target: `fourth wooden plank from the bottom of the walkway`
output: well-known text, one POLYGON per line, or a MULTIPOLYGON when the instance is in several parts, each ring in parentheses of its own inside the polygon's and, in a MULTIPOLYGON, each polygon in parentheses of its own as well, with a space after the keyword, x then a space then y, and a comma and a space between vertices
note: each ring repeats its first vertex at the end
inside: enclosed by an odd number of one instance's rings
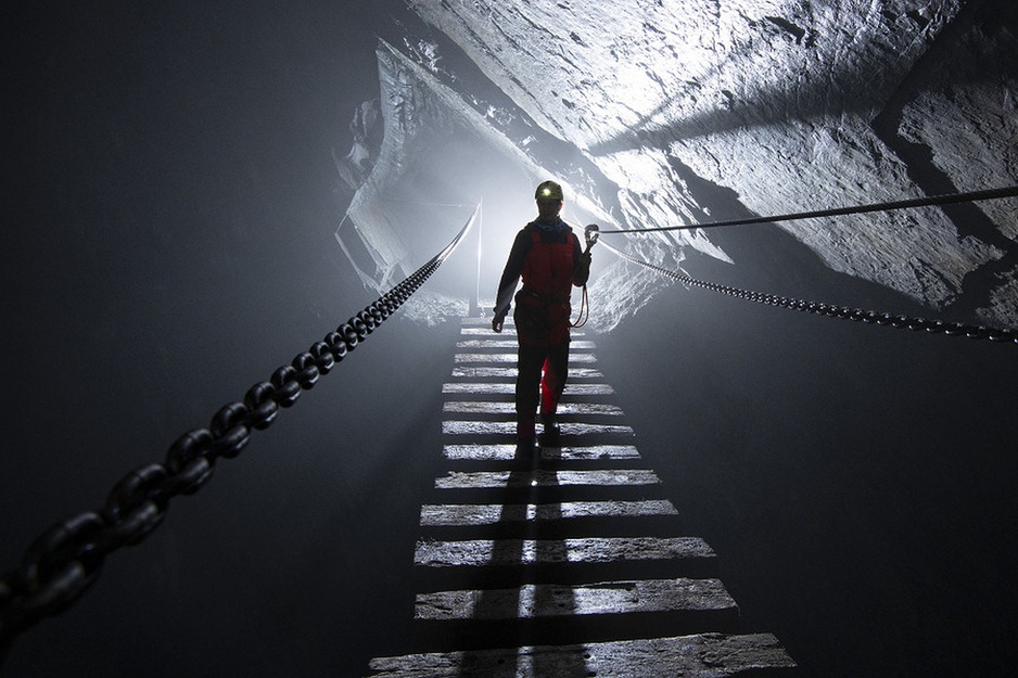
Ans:
POLYGON ((582 517, 636 517, 678 515, 667 499, 642 501, 563 501, 538 504, 424 504, 421 526, 474 526, 524 521, 560 521, 582 517))

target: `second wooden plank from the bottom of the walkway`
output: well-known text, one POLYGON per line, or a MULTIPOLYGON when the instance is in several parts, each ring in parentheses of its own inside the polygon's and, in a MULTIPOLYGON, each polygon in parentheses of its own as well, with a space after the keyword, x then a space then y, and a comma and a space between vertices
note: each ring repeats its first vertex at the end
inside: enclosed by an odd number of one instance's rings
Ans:
POLYGON ((419 593, 413 618, 529 619, 654 612, 710 612, 711 618, 720 615, 736 618, 739 607, 718 579, 679 577, 419 593))

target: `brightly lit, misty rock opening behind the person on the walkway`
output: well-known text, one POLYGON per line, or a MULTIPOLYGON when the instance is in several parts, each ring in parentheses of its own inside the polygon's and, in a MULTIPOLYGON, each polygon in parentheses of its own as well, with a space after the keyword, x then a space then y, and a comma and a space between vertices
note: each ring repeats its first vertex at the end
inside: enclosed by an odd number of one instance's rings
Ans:
POLYGON ((442 307, 453 306, 448 299, 489 300, 516 233, 536 216, 534 188, 546 179, 565 188, 562 216, 577 236, 584 225, 606 222, 603 213, 591 216, 598 209, 585 191, 571 186, 584 180, 583 171, 563 176, 583 162, 573 146, 531 123, 524 138, 510 139, 494 128, 492 116, 519 118, 519 111, 475 108, 396 50, 380 48, 379 56, 385 92, 377 116, 384 123, 383 132, 376 130, 380 148, 355 145, 345 161, 336 159, 341 175, 359 183, 336 241, 366 286, 383 292, 412 272, 480 203, 474 232, 422 296, 438 297, 442 307), (544 141, 533 143, 535 135, 544 141))

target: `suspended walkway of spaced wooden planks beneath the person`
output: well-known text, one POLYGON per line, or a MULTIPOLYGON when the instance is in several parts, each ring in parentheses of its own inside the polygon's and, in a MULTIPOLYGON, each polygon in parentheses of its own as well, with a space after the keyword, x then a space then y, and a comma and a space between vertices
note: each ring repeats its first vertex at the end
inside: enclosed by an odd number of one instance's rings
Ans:
POLYGON ((594 342, 573 342, 561 445, 521 453, 516 342, 488 322, 463 320, 442 389, 448 472, 413 555, 429 651, 374 658, 370 678, 794 675, 774 636, 740 627, 710 546, 680 534, 594 342))

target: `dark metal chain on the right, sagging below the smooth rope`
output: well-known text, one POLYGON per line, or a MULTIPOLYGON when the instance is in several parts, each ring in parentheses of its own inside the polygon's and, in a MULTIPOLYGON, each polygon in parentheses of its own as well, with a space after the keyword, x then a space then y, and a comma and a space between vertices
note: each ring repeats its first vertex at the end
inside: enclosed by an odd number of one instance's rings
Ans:
POLYGON ((966 336, 969 338, 987 338, 991 342, 1018 344, 1018 332, 1014 330, 985 328, 982 325, 971 325, 960 322, 944 322, 943 320, 927 320, 925 318, 915 318, 911 316, 895 316, 893 314, 875 310, 864 310, 861 308, 850 308, 848 306, 836 306, 834 304, 822 304, 817 302, 804 302, 802 299, 794 299, 787 296, 777 296, 774 294, 764 294, 762 292, 751 292, 748 290, 740 290, 738 287, 729 287, 728 285, 721 285, 713 282, 697 280, 696 278, 690 278, 689 276, 676 273, 675 271, 670 271, 665 268, 661 268, 660 266, 654 266, 653 264, 641 261, 640 259, 632 257, 624 252, 612 247, 608 243, 605 243, 603 246, 626 261, 649 268, 652 271, 661 273, 662 276, 666 276, 680 283, 701 287, 703 290, 710 290, 711 292, 727 294, 728 296, 735 296, 750 302, 756 302, 758 304, 780 306, 781 308, 801 310, 820 316, 829 316, 831 318, 841 318, 844 320, 852 320, 854 322, 865 322, 869 324, 878 324, 898 329, 907 328, 908 330, 915 331, 925 330, 926 332, 930 332, 932 334, 966 336))

